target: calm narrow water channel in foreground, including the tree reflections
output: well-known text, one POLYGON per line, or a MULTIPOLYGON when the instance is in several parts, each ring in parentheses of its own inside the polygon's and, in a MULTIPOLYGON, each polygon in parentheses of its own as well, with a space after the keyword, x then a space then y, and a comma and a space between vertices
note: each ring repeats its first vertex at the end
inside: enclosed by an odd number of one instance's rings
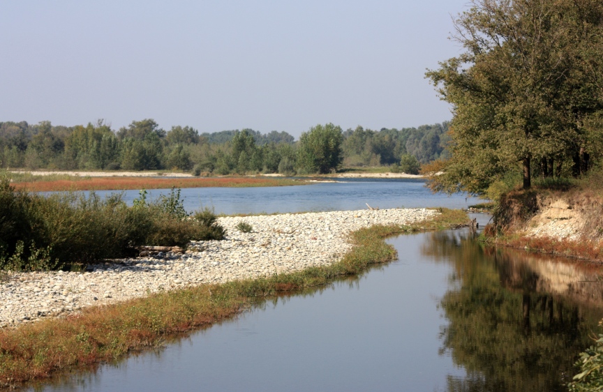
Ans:
POLYGON ((463 230, 389 243, 399 259, 362 277, 36 391, 567 390, 603 317, 597 269, 463 230))

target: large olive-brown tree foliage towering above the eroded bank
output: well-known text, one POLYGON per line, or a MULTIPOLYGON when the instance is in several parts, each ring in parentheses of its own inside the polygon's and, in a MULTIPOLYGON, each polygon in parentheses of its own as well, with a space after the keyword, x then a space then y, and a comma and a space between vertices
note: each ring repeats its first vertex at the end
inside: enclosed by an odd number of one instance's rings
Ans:
MULTIPOLYGON (((529 188, 533 163, 559 175, 584 156, 583 121, 603 110, 600 95, 583 92, 596 86, 584 58, 602 17, 595 0, 472 1, 454 36, 466 52, 426 74, 454 113, 452 158, 432 189, 483 194, 518 169, 529 188)), ((603 64, 600 52, 588 59, 603 64)))

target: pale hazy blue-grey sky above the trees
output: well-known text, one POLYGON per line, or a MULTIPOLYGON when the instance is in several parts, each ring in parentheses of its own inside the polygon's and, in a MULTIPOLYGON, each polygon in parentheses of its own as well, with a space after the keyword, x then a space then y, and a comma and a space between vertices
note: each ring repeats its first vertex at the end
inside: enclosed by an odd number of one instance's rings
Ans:
POLYGON ((317 123, 380 129, 451 118, 424 79, 459 53, 466 0, 2 1, 0 121, 118 129, 317 123))

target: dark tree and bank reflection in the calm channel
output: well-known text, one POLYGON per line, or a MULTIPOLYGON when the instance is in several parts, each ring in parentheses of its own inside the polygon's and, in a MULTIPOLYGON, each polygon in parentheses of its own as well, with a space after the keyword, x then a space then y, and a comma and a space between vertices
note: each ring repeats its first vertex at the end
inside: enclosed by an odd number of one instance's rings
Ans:
POLYGON ((453 266, 440 354, 467 377, 449 377, 449 391, 567 391, 603 315, 597 269, 482 246, 461 232, 433 233, 422 254, 453 266))

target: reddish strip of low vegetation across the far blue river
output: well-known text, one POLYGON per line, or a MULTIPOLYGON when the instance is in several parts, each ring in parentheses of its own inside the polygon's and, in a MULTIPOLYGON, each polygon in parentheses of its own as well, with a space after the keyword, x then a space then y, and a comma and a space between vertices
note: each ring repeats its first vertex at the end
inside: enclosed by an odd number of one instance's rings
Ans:
POLYGON ((253 187, 301 185, 301 181, 253 177, 157 179, 149 177, 93 177, 87 179, 17 182, 13 186, 31 192, 54 190, 127 190, 209 187, 253 187))

